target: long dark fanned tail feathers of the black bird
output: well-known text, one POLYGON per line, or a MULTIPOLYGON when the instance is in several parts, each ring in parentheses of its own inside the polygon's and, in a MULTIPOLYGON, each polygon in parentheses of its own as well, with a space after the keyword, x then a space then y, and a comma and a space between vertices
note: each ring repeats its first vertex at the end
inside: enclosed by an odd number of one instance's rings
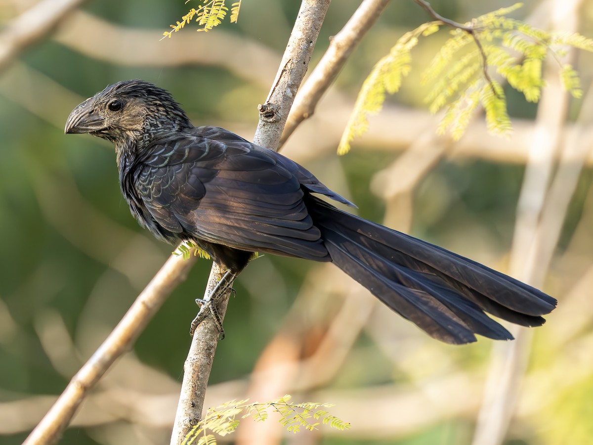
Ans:
POLYGON ((540 326, 556 300, 463 256, 343 212, 309 196, 331 260, 379 300, 433 338, 452 344, 474 334, 512 339, 484 311, 540 326))

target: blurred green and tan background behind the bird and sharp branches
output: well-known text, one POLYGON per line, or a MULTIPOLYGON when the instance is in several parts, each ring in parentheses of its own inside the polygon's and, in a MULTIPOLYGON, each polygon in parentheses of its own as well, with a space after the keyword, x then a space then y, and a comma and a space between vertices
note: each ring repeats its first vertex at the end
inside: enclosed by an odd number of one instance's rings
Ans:
MULTIPOLYGON (((334 0, 311 66, 358 4, 334 0)), ((431 4, 463 22, 510 2, 431 4)), ((253 136, 299 2, 244 0, 236 25, 206 34, 192 24, 160 41, 192 6, 0 1, 0 444, 24 440, 172 250, 130 216, 113 147, 63 134, 71 109, 108 84, 144 78, 170 90, 196 125, 253 136), (74 7, 43 30, 62 4, 74 7), (44 12, 23 15, 40 5, 44 12)), ((515 15, 593 37, 590 0, 528 0, 515 15)), ((581 74, 581 100, 566 97, 553 62, 540 104, 506 90, 510 138, 487 135, 476 116, 452 142, 435 134, 438 116, 426 111, 420 84, 447 38, 438 33, 414 50, 413 74, 368 134, 338 157, 362 81, 426 20, 412 0, 391 2, 283 153, 356 202, 359 215, 524 279, 559 307, 542 328, 515 330, 517 342, 452 347, 331 265, 264 256, 235 283, 206 405, 289 393, 336 403, 332 414, 352 428, 289 435, 272 415, 244 420, 221 443, 593 443, 592 56, 566 56, 581 74)), ((196 262, 60 443, 168 443, 193 300, 209 268, 196 262)))

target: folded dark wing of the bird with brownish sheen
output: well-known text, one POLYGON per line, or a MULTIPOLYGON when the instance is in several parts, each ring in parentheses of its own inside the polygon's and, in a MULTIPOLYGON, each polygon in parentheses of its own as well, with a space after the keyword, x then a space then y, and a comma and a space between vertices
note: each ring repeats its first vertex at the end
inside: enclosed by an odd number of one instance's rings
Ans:
POLYGON ((241 250, 326 257, 297 176, 272 151, 254 147, 243 139, 165 139, 144 156, 136 190, 174 233, 241 250))

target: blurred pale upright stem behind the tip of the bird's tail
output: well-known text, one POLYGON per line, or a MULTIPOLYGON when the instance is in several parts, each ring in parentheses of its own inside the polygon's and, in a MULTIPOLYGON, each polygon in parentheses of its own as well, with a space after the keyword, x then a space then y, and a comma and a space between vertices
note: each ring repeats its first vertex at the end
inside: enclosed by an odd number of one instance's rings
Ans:
MULTIPOLYGON (((553 27, 556 30, 574 31, 580 4, 581 0, 554 1, 550 13, 553 27)), ((558 69, 556 62, 547 63, 548 87, 538 107, 511 250, 511 275, 538 288, 543 285, 544 268, 549 265, 549 261, 540 258, 539 254, 544 250, 551 255, 557 241, 554 236, 541 236, 541 228, 546 200, 549 199, 554 158, 559 149, 568 107, 568 94, 560 85, 558 69)), ((531 348, 531 333, 516 326, 512 327, 511 332, 516 341, 497 344, 492 351, 474 445, 499 445, 511 422, 531 348)))

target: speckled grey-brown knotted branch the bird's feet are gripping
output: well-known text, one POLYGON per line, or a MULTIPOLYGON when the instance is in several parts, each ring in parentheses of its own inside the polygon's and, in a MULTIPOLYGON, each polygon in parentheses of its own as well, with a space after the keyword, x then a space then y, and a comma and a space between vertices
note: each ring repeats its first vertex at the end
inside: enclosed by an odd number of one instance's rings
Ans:
MULTIPOLYGON (((286 117, 307 72, 329 4, 330 0, 302 1, 272 89, 266 102, 258 107, 260 120, 254 136, 256 144, 272 149, 278 147, 286 117)), ((212 293, 217 281, 215 278, 220 270, 221 266, 213 264, 206 295, 212 293)), ((218 307, 221 318, 224 317, 226 306, 227 299, 224 299, 218 307)), ((183 385, 171 435, 172 445, 183 442, 186 434, 202 417, 206 386, 217 344, 218 328, 208 317, 194 333, 184 366, 183 385)))

